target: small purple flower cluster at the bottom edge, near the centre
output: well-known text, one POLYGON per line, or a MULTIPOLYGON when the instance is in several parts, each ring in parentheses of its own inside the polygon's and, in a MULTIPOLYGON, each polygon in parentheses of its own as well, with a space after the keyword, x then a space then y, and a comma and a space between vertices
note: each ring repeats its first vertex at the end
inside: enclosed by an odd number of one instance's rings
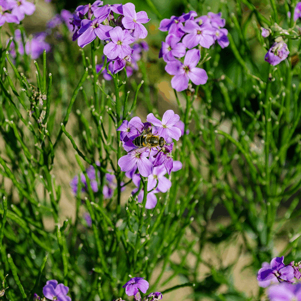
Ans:
POLYGON ((134 296, 135 301, 159 301, 163 297, 161 292, 156 291, 149 293, 147 296, 144 296, 142 300, 139 289, 143 293, 146 293, 149 284, 141 277, 130 278, 129 281, 127 281, 122 287, 125 288, 125 293, 128 296, 134 296))

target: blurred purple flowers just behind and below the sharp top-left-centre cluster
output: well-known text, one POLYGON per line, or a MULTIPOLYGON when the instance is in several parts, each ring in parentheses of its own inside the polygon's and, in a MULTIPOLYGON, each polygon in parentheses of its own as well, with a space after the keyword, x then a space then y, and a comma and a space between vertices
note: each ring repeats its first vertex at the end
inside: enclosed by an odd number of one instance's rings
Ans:
MULTIPOLYGON (((148 44, 145 41, 136 42, 132 45, 132 54, 131 54, 131 60, 125 59, 125 71, 126 76, 130 77, 133 74, 134 70, 138 70, 137 62, 141 59, 142 53, 148 51, 148 44)), ((102 57, 102 61, 105 61, 105 57, 102 57)), ((117 67, 117 64, 115 63, 115 72, 113 68, 113 61, 110 61, 108 64, 108 69, 111 73, 117 73, 123 68, 123 64, 117 67)), ((103 68, 103 63, 96 65, 96 72, 99 73, 101 71, 103 78, 105 80, 111 80, 112 77, 109 75, 106 68, 103 68)))

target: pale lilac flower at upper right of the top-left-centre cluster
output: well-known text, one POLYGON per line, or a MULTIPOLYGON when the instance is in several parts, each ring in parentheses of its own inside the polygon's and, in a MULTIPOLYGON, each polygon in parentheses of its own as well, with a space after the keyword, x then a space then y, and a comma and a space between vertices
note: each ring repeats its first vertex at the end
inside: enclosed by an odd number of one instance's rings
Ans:
POLYGON ((139 37, 140 39, 146 38, 147 30, 142 24, 150 20, 147 14, 143 11, 136 13, 135 6, 132 3, 126 3, 122 9, 124 15, 122 25, 124 28, 133 29, 135 37, 139 37))

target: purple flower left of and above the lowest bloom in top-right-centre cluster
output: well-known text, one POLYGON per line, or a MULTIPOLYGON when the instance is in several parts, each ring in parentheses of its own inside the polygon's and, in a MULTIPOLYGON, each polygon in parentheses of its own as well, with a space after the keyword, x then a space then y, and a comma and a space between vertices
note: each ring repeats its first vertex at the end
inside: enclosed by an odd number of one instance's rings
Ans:
POLYGON ((186 47, 183 43, 179 43, 181 38, 170 34, 166 37, 165 42, 162 42, 159 58, 168 62, 175 60, 175 57, 182 58, 186 54, 186 47))

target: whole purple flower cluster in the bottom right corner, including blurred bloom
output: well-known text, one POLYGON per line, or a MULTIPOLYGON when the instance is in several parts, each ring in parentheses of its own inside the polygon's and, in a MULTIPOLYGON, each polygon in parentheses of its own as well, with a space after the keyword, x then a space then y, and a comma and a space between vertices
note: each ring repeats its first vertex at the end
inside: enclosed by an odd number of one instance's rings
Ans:
POLYGON ((298 300, 301 301, 301 262, 294 261, 285 265, 284 256, 275 257, 270 263, 263 262, 257 273, 258 285, 268 288, 271 301, 298 300))

